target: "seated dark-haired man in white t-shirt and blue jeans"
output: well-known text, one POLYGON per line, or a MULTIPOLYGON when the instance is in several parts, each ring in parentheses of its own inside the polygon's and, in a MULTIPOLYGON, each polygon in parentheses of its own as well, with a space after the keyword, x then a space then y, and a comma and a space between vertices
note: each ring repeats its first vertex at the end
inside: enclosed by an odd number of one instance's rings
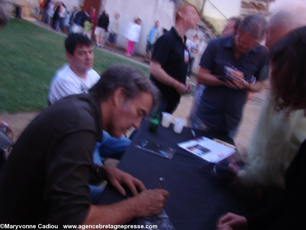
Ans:
MULTIPOLYGON (((100 79, 99 74, 92 69, 94 62, 91 41, 82 34, 70 34, 65 40, 65 64, 56 71, 50 85, 49 103, 53 104, 63 97, 72 94, 88 93, 88 90, 100 79)), ((102 164, 101 157, 121 158, 131 140, 122 136, 113 138, 103 131, 103 140, 97 143, 94 151, 94 163, 102 164)))

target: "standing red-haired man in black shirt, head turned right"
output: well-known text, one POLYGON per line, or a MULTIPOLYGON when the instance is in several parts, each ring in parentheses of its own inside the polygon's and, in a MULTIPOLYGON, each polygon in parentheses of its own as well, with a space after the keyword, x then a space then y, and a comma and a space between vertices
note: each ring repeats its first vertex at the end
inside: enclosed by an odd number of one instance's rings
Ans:
POLYGON ((173 113, 181 95, 192 90, 186 82, 189 54, 185 45, 185 33, 189 29, 195 29, 198 21, 195 6, 189 3, 178 6, 174 27, 160 36, 154 44, 150 78, 161 91, 162 111, 173 113))

